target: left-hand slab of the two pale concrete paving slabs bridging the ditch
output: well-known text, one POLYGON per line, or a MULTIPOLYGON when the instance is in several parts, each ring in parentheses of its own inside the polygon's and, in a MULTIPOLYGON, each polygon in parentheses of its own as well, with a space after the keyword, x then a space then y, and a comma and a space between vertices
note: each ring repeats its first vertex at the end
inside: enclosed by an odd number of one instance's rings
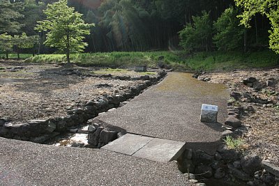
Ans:
POLYGON ((112 150, 116 153, 133 155, 137 150, 146 146, 153 138, 143 137, 135 134, 125 134, 123 137, 112 141, 110 144, 103 146, 103 149, 112 150))

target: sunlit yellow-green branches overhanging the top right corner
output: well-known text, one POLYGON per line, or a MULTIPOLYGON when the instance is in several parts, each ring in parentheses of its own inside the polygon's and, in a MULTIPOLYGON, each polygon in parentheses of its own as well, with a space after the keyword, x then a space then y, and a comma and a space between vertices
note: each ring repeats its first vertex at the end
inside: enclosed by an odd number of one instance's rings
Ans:
POLYGON ((269 47, 279 54, 279 1, 277 0, 234 0, 236 6, 243 8, 241 24, 250 27, 250 20, 257 13, 266 15, 271 22, 271 30, 269 31, 269 47))

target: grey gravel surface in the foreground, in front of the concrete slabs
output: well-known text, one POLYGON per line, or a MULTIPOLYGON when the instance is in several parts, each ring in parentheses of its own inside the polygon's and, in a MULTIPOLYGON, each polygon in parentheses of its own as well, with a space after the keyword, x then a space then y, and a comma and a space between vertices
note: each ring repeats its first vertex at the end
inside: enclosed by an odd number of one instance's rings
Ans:
POLYGON ((0 185, 190 185, 174 162, 0 138, 0 185))

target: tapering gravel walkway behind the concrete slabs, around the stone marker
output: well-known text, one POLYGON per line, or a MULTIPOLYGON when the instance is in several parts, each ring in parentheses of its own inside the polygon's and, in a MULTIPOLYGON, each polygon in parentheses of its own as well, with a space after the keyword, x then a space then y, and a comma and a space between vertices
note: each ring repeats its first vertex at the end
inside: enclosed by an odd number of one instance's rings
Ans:
POLYGON ((186 142, 191 148, 213 153, 220 140, 220 123, 227 117, 229 92, 223 84, 193 79, 171 72, 125 106, 101 114, 96 121, 116 125, 134 134, 186 142), (218 122, 199 121, 202 104, 218 105, 218 122))

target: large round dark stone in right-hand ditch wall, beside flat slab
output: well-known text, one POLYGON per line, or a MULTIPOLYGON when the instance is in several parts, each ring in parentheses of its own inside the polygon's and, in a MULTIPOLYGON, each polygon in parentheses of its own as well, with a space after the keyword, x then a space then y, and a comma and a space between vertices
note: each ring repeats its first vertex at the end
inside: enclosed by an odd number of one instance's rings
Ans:
POLYGON ((241 167, 244 172, 254 176, 255 171, 262 167, 262 159, 258 155, 246 155, 241 158, 241 167))

